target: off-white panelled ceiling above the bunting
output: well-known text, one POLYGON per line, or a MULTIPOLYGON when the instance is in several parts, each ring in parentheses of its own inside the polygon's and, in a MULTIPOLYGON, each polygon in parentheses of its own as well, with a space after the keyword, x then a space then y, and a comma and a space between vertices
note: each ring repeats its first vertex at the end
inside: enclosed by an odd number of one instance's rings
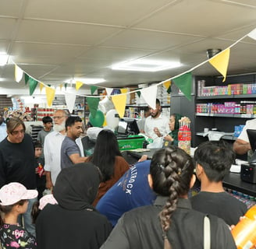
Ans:
MULTIPOLYGON (((169 79, 207 60, 256 27, 256 0, 0 0, 0 52, 45 84, 73 77, 104 78, 101 86, 169 79), (137 58, 177 60, 162 72, 114 71, 137 58)), ((228 74, 256 72, 256 40, 231 48, 228 74)), ((194 75, 219 75, 208 63, 194 75)), ((0 94, 29 93, 0 67, 0 94)), ((82 86, 85 89, 87 86, 82 86)))

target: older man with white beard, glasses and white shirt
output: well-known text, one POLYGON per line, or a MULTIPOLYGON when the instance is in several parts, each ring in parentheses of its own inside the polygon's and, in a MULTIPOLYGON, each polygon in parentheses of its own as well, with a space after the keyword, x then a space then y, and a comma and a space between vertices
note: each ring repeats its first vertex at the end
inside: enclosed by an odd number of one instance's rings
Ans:
MULTIPOLYGON (((44 139, 44 170, 46 173, 46 188, 52 189, 56 178, 61 170, 61 147, 66 136, 65 123, 68 115, 65 110, 55 110, 52 117, 54 121, 53 132, 44 139)), ((80 139, 77 141, 81 155, 84 156, 84 149, 80 139)))

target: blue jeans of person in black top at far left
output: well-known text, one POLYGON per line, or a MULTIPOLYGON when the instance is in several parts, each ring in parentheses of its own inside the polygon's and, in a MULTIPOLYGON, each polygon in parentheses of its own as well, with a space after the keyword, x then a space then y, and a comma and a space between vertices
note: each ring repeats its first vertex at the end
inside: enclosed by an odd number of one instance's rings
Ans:
POLYGON ((31 211, 32 211, 32 205, 34 202, 37 202, 37 197, 34 199, 28 200, 27 205, 27 212, 23 213, 23 215, 20 215, 19 217, 19 223, 20 225, 23 224, 23 227, 31 233, 34 237, 36 237, 36 230, 34 224, 32 224, 32 218, 31 218, 31 211))

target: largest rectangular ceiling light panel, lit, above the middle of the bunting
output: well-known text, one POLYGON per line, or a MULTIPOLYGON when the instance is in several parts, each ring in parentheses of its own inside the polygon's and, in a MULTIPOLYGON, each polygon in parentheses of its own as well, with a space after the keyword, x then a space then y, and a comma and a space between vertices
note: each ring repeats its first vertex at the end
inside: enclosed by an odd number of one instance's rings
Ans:
POLYGON ((180 67, 180 62, 177 61, 154 61, 154 60, 135 60, 123 61, 119 64, 112 65, 114 70, 128 70, 141 72, 158 72, 169 68, 180 67))

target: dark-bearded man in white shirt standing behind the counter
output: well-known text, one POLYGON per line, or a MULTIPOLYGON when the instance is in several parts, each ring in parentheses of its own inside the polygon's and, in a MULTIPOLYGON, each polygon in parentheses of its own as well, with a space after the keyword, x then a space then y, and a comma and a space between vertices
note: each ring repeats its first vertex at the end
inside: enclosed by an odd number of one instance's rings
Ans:
POLYGON ((169 117, 165 117, 161 113, 160 101, 156 99, 155 109, 149 107, 150 116, 146 118, 144 132, 149 138, 153 139, 153 143, 148 148, 161 148, 163 138, 169 134, 169 117))

